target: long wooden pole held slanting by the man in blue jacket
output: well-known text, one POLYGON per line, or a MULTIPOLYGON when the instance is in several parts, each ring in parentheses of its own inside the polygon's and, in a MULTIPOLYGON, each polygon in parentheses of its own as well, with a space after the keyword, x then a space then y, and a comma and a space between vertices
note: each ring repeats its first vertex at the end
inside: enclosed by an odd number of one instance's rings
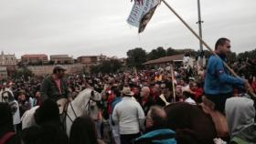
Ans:
MULTIPOLYGON (((197 39, 198 39, 200 42, 202 42, 203 45, 206 46, 206 47, 208 48, 208 50, 209 50, 213 55, 215 55, 216 57, 219 57, 219 56, 215 53, 215 51, 213 51, 213 50, 210 48, 210 46, 208 46, 208 44, 207 44, 200 36, 198 36, 197 33, 196 33, 190 26, 187 25, 187 23, 183 20, 183 18, 182 18, 180 15, 178 15, 178 14, 176 13, 176 11, 175 11, 170 5, 168 5, 168 4, 166 3, 165 0, 161 0, 161 1, 178 17, 178 19, 179 19, 185 26, 187 26, 187 28, 191 31, 191 33, 194 34, 194 36, 196 36, 197 39)), ((219 58, 220 58, 220 57, 219 57, 219 58)), ((227 67, 227 68, 229 69, 229 71, 230 71, 235 77, 239 77, 239 76, 234 72, 234 70, 228 66, 227 63, 225 63, 225 62, 223 61, 223 64, 224 64, 225 67, 227 67)), ((250 90, 250 89, 249 89, 249 90, 250 90)), ((254 98, 256 98, 256 95, 253 93, 253 91, 250 90, 250 93, 251 93, 251 95, 252 95, 254 98)))

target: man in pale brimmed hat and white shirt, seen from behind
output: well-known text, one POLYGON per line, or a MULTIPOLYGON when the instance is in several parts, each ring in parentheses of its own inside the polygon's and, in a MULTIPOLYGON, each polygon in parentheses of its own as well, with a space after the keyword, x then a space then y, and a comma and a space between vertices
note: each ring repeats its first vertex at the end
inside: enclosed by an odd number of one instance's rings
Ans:
POLYGON ((123 99, 112 112, 112 119, 119 124, 121 144, 132 144, 132 140, 140 137, 140 129, 144 124, 144 110, 133 100, 130 87, 123 87, 123 99))

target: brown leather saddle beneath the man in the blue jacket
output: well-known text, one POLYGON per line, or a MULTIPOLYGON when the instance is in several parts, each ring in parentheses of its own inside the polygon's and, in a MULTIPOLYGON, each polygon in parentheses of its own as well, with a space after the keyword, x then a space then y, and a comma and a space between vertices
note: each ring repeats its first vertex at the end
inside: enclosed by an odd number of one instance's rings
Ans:
POLYGON ((205 96, 202 98, 202 103, 200 104, 205 113, 210 115, 212 121, 215 125, 217 131, 217 136, 219 138, 229 137, 229 127, 227 118, 225 115, 215 110, 215 104, 205 96))

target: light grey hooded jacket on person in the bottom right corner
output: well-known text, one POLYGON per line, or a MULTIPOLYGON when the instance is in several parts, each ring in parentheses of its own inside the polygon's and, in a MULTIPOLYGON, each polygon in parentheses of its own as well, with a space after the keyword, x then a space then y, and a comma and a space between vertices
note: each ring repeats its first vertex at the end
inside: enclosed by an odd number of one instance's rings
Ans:
POLYGON ((226 101, 225 110, 231 141, 255 144, 256 123, 254 121, 255 108, 253 100, 249 98, 229 98, 226 101))

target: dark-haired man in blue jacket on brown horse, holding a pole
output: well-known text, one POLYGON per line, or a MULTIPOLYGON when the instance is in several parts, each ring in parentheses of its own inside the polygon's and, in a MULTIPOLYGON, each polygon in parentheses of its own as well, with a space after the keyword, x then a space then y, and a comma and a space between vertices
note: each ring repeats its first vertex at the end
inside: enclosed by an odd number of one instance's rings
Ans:
POLYGON ((219 38, 215 44, 215 52, 220 58, 213 55, 208 59, 205 94, 220 112, 224 111, 226 99, 233 96, 233 86, 250 87, 247 80, 230 76, 228 68, 224 66, 230 47, 228 38, 219 38))

